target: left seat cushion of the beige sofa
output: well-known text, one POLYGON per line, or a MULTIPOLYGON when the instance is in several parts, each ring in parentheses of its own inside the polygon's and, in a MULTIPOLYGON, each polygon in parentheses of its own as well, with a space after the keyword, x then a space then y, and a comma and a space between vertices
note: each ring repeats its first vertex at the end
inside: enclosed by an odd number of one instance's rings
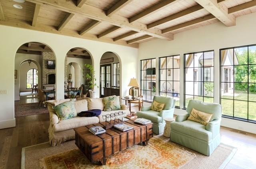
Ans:
POLYGON ((67 120, 61 120, 57 124, 54 124, 52 130, 54 132, 60 132, 63 130, 82 127, 90 124, 96 124, 99 122, 98 117, 75 117, 67 120))

